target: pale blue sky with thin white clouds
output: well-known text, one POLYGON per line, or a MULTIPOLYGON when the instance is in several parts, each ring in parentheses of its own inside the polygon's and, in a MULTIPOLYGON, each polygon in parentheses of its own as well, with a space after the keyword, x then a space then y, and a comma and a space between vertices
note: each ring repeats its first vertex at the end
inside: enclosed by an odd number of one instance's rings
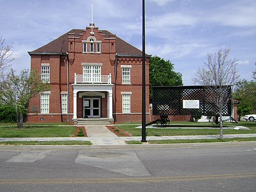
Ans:
MULTIPOLYGON (((91 23, 91 0, 0 0, 0 36, 12 68, 30 69, 27 52, 91 23)), ((142 1, 93 0, 93 23, 142 49, 142 1)), ((145 50, 174 64, 184 85, 208 53, 231 49, 240 79, 256 70, 256 0, 145 0, 145 50)))

